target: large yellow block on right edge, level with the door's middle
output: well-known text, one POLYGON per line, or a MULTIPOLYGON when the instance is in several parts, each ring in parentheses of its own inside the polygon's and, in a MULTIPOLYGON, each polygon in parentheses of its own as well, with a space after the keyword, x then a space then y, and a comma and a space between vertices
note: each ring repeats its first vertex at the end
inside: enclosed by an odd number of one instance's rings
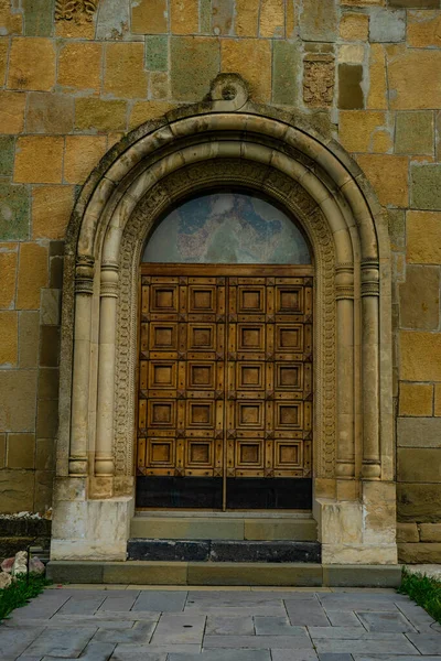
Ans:
POLYGON ((441 381, 441 333, 400 332, 401 378, 441 381))

